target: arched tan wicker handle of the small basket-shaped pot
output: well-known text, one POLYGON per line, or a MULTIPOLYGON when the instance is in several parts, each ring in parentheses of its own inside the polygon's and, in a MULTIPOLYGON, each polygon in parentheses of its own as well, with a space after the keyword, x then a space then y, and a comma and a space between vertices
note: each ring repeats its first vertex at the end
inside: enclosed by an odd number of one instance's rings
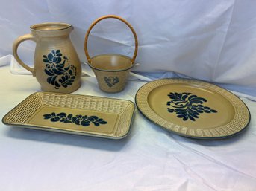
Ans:
POLYGON ((99 17, 99 19, 96 19, 92 25, 90 25, 89 29, 87 30, 87 33, 85 35, 85 39, 84 39, 84 52, 85 52, 85 56, 87 56, 87 60, 90 63, 91 62, 91 58, 88 54, 88 49, 87 49, 87 41, 88 41, 88 36, 90 34, 90 31, 93 29, 94 25, 96 25, 98 22, 100 22, 103 19, 107 19, 107 18, 113 18, 113 19, 119 19, 120 21, 124 22, 126 25, 128 25, 128 27, 131 29, 131 32, 134 34, 134 40, 135 40, 135 50, 134 50, 134 56, 131 59, 131 62, 134 63, 135 58, 137 56, 137 52, 138 52, 138 39, 137 39, 137 34, 135 33, 134 28, 127 22, 125 21, 125 19, 122 19, 120 16, 115 16, 115 15, 107 15, 107 16, 102 16, 99 17))

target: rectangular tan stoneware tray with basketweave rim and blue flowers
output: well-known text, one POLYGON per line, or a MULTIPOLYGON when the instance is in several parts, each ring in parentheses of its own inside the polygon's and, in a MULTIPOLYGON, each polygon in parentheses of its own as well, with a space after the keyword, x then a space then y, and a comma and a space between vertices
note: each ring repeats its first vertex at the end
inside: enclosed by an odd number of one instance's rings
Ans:
POLYGON ((2 122, 29 129, 121 139, 131 128, 134 108, 129 100, 37 92, 9 111, 2 122))

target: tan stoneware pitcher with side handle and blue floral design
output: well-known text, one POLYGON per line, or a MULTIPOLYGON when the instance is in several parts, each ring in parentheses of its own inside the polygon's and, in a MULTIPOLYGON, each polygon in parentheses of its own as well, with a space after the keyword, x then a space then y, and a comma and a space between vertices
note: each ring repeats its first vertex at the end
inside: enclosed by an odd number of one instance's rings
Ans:
POLYGON ((72 25, 46 22, 30 27, 31 33, 19 36, 13 43, 13 55, 17 62, 41 85, 42 91, 70 93, 81 85, 81 62, 69 39, 72 25), (34 68, 29 67, 17 54, 19 44, 25 40, 36 42, 34 68))

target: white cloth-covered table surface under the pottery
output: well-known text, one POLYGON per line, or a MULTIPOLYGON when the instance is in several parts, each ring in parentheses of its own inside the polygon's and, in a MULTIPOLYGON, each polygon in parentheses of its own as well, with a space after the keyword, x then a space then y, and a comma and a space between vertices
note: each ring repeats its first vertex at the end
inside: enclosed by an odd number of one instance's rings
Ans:
MULTIPOLYGON (((0 67, 0 117, 40 91, 34 77, 0 67)), ((145 82, 105 94, 96 79, 82 77, 74 94, 134 101, 145 82)), ((256 103, 242 100, 252 120, 225 140, 173 135, 135 111, 131 133, 107 140, 0 125, 0 190, 256 190, 256 103)))

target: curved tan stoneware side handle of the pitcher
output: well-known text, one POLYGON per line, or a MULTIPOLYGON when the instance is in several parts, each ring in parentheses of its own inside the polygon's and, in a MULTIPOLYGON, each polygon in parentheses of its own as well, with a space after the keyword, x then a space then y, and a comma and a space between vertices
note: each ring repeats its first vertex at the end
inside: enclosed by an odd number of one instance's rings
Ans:
POLYGON ((22 67, 24 67, 25 69, 27 69, 28 71, 31 71, 31 73, 34 76, 34 68, 29 67, 28 65, 26 65, 24 62, 22 62, 22 60, 19 58, 17 50, 18 50, 18 46, 20 43, 22 43, 25 40, 33 40, 34 36, 32 34, 25 34, 23 36, 19 36, 14 42, 13 42, 13 56, 16 59, 16 61, 22 65, 22 67))

